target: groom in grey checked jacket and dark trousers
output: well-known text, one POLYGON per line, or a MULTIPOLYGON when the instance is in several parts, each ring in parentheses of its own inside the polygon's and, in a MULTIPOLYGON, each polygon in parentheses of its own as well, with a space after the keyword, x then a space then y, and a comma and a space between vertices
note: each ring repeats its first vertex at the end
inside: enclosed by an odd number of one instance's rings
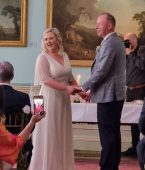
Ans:
POLYGON ((96 31, 103 41, 92 65, 91 77, 82 85, 84 91, 91 90, 91 101, 97 103, 101 170, 118 170, 121 159, 120 118, 125 99, 126 55, 115 25, 111 14, 98 16, 96 31))

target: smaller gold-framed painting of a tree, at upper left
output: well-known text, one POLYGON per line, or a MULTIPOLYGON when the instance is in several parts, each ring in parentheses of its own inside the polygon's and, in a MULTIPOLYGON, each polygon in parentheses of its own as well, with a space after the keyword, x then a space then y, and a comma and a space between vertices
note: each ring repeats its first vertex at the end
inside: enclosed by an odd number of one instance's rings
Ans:
POLYGON ((27 0, 0 0, 0 46, 26 46, 27 0))

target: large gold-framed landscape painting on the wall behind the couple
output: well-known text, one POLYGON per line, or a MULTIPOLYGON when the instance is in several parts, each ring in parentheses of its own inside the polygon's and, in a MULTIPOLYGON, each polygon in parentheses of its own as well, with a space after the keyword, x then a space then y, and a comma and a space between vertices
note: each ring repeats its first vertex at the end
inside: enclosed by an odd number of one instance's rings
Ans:
POLYGON ((96 18, 109 12, 116 18, 122 38, 134 32, 145 43, 145 0, 47 0, 46 27, 57 27, 73 66, 90 66, 102 39, 96 35, 96 18))

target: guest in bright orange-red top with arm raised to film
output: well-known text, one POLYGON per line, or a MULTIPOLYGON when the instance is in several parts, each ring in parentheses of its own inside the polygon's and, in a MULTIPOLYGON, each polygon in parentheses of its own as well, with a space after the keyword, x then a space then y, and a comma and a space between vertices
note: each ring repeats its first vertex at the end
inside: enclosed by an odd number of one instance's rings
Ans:
POLYGON ((23 144, 28 140, 35 123, 40 121, 45 116, 45 113, 43 115, 33 115, 24 130, 18 136, 16 136, 7 131, 5 128, 5 115, 3 114, 3 106, 4 96, 2 87, 0 86, 0 170, 3 168, 2 161, 6 161, 9 164, 16 163, 18 154, 23 144))

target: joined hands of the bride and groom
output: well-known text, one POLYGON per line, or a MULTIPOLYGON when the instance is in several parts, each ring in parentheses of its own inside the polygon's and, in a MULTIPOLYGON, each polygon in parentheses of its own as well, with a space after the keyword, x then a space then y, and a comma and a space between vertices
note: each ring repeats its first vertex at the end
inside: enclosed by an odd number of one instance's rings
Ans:
POLYGON ((90 92, 83 91, 80 86, 68 85, 67 92, 71 95, 75 95, 77 93, 85 101, 90 101, 90 92))

